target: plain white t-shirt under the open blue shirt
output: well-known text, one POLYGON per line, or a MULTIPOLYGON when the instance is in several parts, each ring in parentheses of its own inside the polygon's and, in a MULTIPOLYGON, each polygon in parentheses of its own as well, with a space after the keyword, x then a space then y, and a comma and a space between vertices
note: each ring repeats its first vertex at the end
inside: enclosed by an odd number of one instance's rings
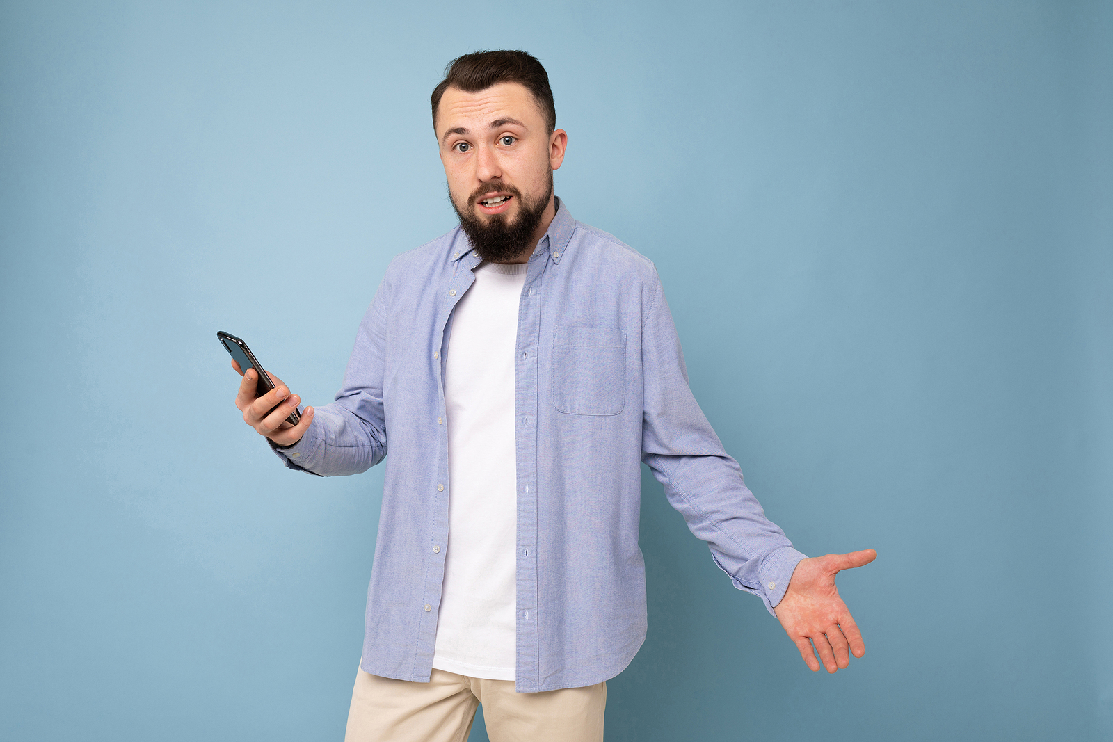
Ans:
POLYGON ((514 680, 514 347, 526 268, 475 268, 445 358, 449 543, 433 666, 491 680, 514 680))

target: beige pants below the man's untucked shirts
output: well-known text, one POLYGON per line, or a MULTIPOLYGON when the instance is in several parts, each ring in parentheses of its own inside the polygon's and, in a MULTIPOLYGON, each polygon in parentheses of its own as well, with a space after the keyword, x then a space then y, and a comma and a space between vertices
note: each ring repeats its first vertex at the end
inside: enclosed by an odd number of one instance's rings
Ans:
POLYGON ((359 670, 344 742, 464 742, 483 704, 491 742, 602 742, 607 683, 516 693, 514 681, 433 667, 427 683, 359 670))

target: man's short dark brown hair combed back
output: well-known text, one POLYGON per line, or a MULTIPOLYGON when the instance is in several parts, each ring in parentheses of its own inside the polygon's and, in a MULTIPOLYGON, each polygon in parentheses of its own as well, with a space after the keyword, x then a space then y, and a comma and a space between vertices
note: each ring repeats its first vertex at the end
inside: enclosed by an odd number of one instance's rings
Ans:
POLYGON ((553 91, 549 87, 549 75, 541 62, 524 51, 473 51, 456 57, 444 68, 444 79, 433 88, 430 101, 433 103, 433 127, 436 128, 436 108, 441 96, 449 88, 464 92, 479 92, 500 82, 518 82, 533 93, 541 115, 549 127, 549 133, 556 129, 556 106, 553 91))

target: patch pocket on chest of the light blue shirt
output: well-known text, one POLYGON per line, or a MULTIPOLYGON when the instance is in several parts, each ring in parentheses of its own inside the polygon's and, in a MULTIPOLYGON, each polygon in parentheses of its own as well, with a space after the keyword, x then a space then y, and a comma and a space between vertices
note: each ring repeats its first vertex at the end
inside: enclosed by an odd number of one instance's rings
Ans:
POLYGON ((553 333, 550 393, 569 415, 618 415, 626 404, 626 333, 565 327, 553 333))

